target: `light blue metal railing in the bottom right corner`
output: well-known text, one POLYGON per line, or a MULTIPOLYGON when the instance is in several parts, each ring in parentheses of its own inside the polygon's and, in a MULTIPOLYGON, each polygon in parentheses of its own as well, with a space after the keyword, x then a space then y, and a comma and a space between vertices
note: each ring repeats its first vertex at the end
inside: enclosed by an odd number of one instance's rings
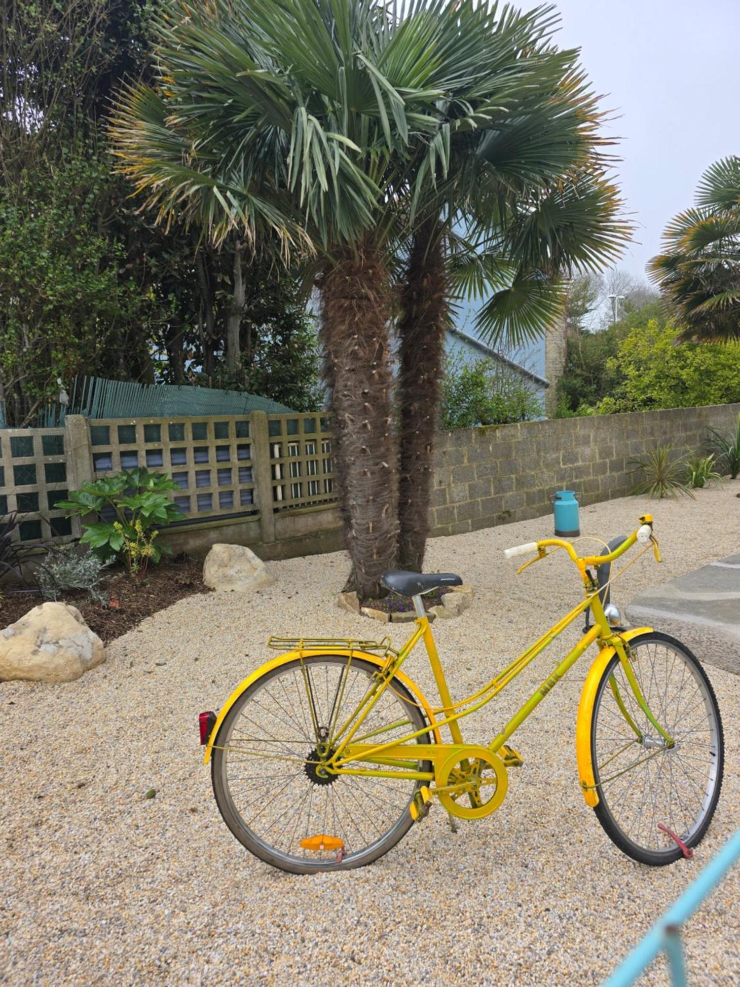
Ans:
POLYGON ((715 887, 732 865, 740 858, 740 829, 711 860, 699 877, 689 885, 673 908, 655 923, 629 956, 603 987, 629 987, 652 962, 657 954, 665 949, 671 980, 674 987, 687 987, 684 950, 681 943, 681 925, 702 904, 706 895, 715 887))

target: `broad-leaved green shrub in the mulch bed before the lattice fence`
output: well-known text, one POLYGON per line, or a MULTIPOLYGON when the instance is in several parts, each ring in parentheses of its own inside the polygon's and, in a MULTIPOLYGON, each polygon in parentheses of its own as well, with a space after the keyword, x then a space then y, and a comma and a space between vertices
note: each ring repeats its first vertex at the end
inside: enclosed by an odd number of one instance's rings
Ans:
POLYGON ((178 489, 164 474, 124 470, 83 484, 70 494, 69 500, 60 500, 57 506, 66 510, 68 517, 97 513, 100 520, 83 522, 81 541, 104 558, 111 553, 121 556, 129 572, 143 573, 150 560, 158 563, 163 552, 170 552, 156 539, 162 525, 185 516, 167 496, 167 491, 178 489))

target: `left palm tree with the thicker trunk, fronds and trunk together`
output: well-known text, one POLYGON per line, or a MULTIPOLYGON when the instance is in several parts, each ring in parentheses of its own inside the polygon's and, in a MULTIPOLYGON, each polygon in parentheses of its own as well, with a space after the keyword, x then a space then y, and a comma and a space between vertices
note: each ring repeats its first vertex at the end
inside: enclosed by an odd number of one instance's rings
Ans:
POLYGON ((380 591, 398 530, 388 245, 408 148, 435 128, 445 89, 428 30, 406 23, 374 0, 174 0, 158 23, 160 84, 124 92, 113 122, 122 170, 161 222, 315 256, 363 596, 380 591))

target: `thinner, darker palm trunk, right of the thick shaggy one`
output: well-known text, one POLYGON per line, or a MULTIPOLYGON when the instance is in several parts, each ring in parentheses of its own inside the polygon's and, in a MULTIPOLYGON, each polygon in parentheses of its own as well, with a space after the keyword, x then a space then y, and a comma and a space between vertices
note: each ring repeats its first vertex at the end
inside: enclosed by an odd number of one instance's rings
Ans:
POLYGON ((399 378, 400 569, 420 572, 429 534, 434 432, 448 323, 444 243, 436 220, 411 244, 401 296, 399 378))

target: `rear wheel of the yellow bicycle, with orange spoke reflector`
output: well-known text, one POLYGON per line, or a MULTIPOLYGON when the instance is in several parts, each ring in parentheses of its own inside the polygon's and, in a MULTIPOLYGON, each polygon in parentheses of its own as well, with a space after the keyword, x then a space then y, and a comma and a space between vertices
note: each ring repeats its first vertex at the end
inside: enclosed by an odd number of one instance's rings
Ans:
MULTIPOLYGON (((260 860, 292 873, 362 867, 407 833, 421 781, 318 770, 322 745, 373 687, 377 671, 345 655, 296 659, 262 675, 227 714, 214 744, 213 792, 229 829, 260 860)), ((373 734, 361 742, 380 744, 426 725, 394 678, 354 739, 373 734)), ((417 739, 431 742, 427 733, 417 739)), ((432 770, 428 761, 412 763, 432 770)))

